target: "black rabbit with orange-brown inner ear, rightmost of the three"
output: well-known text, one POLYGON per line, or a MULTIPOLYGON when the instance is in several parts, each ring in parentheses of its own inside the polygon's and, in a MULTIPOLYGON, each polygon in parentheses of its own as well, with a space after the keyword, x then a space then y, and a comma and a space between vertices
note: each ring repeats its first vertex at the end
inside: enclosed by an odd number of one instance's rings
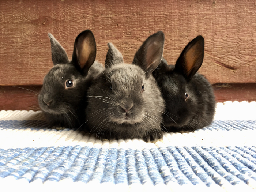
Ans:
POLYGON ((204 58, 204 38, 198 36, 184 48, 175 65, 162 59, 153 72, 161 87, 166 110, 163 129, 193 131, 211 124, 215 97, 211 84, 197 73, 204 58))

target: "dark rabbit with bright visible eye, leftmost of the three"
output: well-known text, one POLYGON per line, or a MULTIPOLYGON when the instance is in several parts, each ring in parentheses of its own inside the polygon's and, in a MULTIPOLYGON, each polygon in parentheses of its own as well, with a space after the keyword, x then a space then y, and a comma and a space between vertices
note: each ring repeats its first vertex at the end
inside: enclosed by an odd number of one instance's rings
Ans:
POLYGON ((71 61, 53 35, 48 33, 48 36, 54 67, 44 78, 39 105, 50 125, 79 128, 85 122, 87 89, 104 70, 103 65, 95 61, 94 35, 85 30, 76 37, 71 61))

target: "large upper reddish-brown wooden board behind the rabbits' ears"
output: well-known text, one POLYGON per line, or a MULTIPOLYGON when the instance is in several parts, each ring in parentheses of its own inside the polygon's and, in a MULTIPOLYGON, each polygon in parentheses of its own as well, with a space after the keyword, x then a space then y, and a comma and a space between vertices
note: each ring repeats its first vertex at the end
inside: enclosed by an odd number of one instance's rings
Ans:
POLYGON ((197 35, 205 38, 200 72, 211 83, 256 82, 256 3, 251 0, 0 1, 0 85, 40 85, 52 67, 50 32, 71 59, 76 36, 93 31, 97 60, 112 42, 130 63, 142 42, 165 33, 174 64, 197 35))

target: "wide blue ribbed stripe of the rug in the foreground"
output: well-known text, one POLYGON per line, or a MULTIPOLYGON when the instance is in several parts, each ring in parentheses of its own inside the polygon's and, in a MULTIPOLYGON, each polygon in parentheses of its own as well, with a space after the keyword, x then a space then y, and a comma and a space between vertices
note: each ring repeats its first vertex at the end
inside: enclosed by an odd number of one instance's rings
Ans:
MULTIPOLYGON (((239 148, 233 150, 243 153, 239 148)), ((25 178, 29 182, 70 178, 74 182, 99 180, 127 185, 168 184, 170 181, 197 185, 203 182, 207 187, 213 182, 219 184, 223 178, 232 185, 246 183, 249 178, 256 180, 256 163, 234 158, 230 152, 223 147, 168 147, 142 151, 81 146, 9 149, 0 153, 0 177, 25 178), (215 178, 214 174, 223 178, 215 178)))

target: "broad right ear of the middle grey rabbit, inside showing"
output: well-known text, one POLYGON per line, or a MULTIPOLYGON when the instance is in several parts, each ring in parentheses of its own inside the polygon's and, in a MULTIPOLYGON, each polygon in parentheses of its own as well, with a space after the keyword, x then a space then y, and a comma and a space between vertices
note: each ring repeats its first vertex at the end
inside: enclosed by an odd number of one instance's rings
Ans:
POLYGON ((149 77, 160 64, 163 56, 164 42, 165 35, 162 31, 158 31, 150 35, 135 53, 132 63, 140 66, 146 72, 146 77, 149 77))

